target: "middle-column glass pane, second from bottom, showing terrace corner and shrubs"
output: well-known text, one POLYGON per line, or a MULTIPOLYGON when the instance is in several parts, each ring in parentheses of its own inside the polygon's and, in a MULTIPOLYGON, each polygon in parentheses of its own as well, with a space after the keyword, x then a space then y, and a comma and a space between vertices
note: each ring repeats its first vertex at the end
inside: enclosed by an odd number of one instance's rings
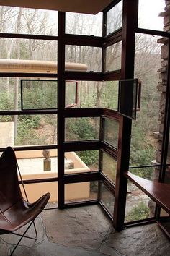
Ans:
POLYGON ((65 174, 99 170, 99 150, 65 153, 65 174))

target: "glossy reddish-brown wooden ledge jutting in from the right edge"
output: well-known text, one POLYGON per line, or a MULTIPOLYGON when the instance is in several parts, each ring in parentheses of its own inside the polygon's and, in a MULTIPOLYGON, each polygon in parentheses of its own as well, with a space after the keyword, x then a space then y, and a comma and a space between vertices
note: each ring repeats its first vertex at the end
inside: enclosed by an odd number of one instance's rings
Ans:
POLYGON ((125 172, 124 176, 170 214, 170 184, 152 182, 148 179, 140 178, 130 171, 125 172))

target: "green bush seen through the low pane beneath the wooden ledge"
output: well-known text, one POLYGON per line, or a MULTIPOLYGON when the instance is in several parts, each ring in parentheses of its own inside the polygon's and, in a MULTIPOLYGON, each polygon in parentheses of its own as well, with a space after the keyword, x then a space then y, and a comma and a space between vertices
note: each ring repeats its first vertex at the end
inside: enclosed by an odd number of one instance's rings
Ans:
POLYGON ((149 218, 149 209, 145 202, 139 202, 127 214, 126 221, 138 221, 144 218, 149 218))

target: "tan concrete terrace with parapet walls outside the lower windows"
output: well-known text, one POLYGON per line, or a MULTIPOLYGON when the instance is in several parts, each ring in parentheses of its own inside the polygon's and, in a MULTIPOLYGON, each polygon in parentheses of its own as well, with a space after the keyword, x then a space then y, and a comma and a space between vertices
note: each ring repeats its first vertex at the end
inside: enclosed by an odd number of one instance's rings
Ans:
MULTIPOLYGON (((17 161, 22 174, 23 180, 33 179, 48 179, 58 176, 57 164, 53 166, 52 171, 43 171, 43 155, 42 150, 31 151, 16 151, 17 161), (28 161, 28 162, 27 162, 28 161), (41 164, 40 164, 41 163, 41 164), (29 168, 28 168, 28 165, 29 168)), ((57 161, 57 150, 50 150, 50 158, 55 158, 57 161)), ((89 167, 81 161, 78 155, 74 152, 65 154, 66 159, 73 161, 74 168, 65 169, 65 174, 73 174, 90 171, 89 167)), ((58 182, 40 182, 24 185, 29 202, 35 202, 40 196, 46 192, 50 192, 50 202, 58 201, 58 182)), ((21 185, 22 189, 22 185, 21 185)), ((22 189, 22 195, 24 195, 22 189)), ((65 185, 65 200, 81 200, 89 199, 90 182, 81 182, 65 185)))

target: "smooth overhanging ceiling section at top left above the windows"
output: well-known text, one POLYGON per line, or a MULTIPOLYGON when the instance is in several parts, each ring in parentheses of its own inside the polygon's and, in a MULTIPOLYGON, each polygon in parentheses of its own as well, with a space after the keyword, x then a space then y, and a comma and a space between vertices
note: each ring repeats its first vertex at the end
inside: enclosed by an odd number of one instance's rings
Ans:
POLYGON ((112 0, 0 0, 0 5, 97 14, 112 0))

